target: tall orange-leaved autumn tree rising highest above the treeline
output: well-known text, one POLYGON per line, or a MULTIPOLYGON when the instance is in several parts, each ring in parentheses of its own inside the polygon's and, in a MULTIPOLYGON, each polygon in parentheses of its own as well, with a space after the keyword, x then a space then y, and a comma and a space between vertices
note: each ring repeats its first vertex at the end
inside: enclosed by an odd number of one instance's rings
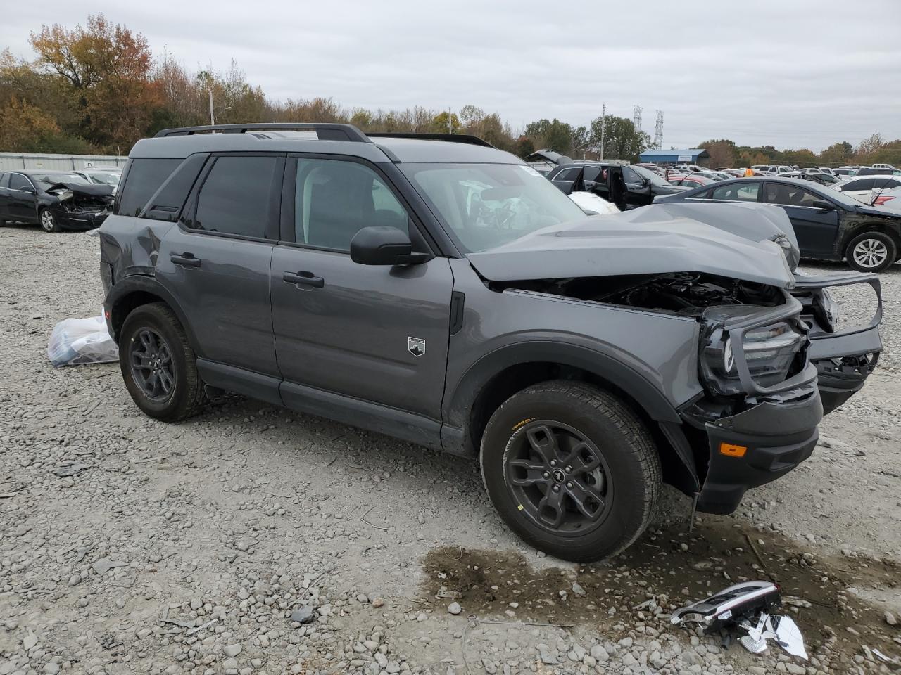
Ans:
POLYGON ((72 132, 114 151, 127 151, 146 135, 161 96, 151 78, 150 45, 141 33, 96 14, 86 27, 43 26, 30 41, 37 66, 66 91, 77 124, 72 132))

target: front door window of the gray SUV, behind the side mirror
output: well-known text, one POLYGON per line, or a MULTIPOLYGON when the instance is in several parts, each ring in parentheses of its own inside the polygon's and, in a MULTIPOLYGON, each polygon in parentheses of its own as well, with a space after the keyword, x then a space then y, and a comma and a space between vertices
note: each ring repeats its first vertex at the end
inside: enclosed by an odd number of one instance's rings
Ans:
POLYGON ((296 243, 346 253, 350 239, 366 227, 383 225, 409 235, 406 209, 369 166, 342 159, 296 162, 296 243))

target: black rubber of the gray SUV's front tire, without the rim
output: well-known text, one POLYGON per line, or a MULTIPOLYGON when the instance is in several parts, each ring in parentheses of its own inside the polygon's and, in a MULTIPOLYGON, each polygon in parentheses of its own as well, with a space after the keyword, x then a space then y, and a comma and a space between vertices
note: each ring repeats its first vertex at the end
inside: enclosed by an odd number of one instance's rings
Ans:
POLYGON ((632 542, 644 527, 644 501, 651 486, 623 430, 596 408, 559 392, 520 392, 489 420, 481 444, 482 477, 489 497, 505 523, 528 544, 566 560, 596 560, 632 542), (605 520, 585 535, 554 535, 520 511, 505 480, 504 459, 516 428, 528 419, 568 424, 590 438, 610 470, 614 503, 605 520))

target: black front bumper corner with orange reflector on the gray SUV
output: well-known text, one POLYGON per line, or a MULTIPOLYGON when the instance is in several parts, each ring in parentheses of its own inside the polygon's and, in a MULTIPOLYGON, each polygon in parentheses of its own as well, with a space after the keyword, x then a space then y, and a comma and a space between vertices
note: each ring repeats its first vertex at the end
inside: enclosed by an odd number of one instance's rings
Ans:
POLYGON ((732 417, 707 422, 710 463, 697 509, 732 513, 745 491, 775 481, 814 452, 823 419, 819 392, 796 401, 763 402, 732 417), (742 456, 724 454, 721 447, 746 448, 742 456))

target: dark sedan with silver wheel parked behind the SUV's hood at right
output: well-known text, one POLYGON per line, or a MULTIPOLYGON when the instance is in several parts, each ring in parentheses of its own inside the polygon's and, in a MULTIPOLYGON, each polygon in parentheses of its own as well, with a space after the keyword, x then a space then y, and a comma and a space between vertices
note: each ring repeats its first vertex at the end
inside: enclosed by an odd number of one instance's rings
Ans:
POLYGON ((801 256, 847 260, 860 272, 891 266, 901 246, 901 213, 874 209, 811 181, 791 178, 736 178, 657 202, 764 202, 785 209, 795 228, 801 256))

